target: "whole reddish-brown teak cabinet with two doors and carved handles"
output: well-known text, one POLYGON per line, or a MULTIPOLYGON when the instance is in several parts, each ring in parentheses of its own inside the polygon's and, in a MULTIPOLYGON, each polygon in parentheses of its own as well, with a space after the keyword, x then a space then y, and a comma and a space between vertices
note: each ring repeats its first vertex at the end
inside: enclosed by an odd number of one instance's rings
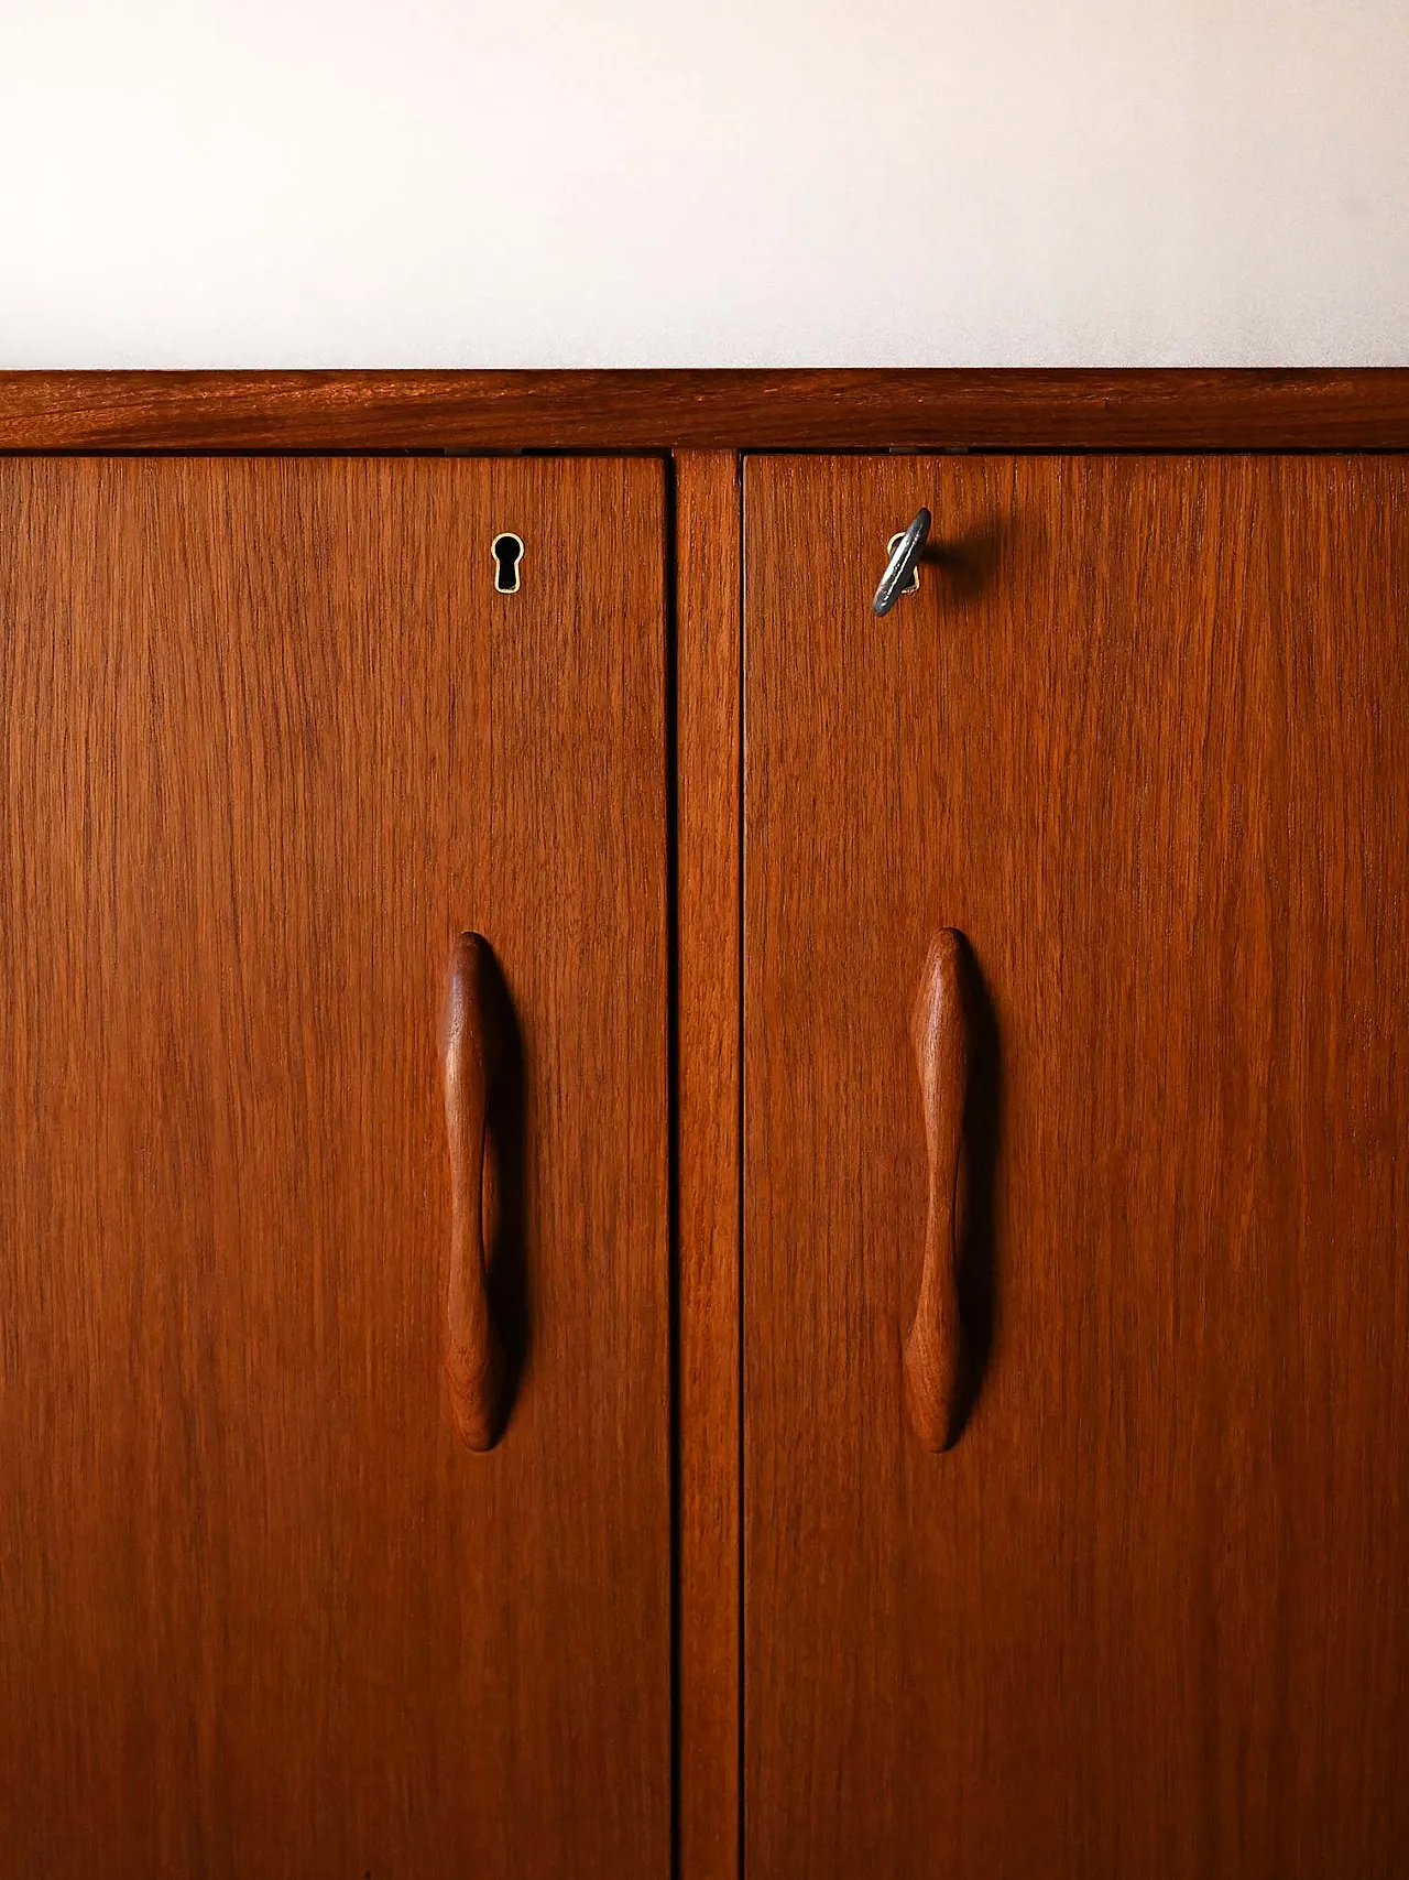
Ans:
POLYGON ((8 1869, 1403 1871, 1405 380, 0 378, 8 1869))

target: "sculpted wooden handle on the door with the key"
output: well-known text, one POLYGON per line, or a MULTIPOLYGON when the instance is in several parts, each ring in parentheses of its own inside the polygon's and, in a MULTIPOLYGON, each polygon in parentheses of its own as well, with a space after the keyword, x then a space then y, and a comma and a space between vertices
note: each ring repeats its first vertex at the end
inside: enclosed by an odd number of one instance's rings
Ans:
POLYGON ((924 961, 911 1019, 924 1105, 930 1205, 921 1292, 906 1339, 906 1397, 909 1419, 926 1449, 949 1444, 962 1357, 958 1256, 968 1201, 964 1109, 973 1055, 973 996, 968 978, 968 942, 958 929, 945 927, 924 961))

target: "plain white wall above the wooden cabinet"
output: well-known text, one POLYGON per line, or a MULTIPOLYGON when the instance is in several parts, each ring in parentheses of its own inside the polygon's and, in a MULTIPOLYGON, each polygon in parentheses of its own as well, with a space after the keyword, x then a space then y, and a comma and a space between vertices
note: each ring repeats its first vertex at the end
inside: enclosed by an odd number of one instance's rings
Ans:
POLYGON ((0 365, 1409 363, 1409 0, 0 0, 0 365))

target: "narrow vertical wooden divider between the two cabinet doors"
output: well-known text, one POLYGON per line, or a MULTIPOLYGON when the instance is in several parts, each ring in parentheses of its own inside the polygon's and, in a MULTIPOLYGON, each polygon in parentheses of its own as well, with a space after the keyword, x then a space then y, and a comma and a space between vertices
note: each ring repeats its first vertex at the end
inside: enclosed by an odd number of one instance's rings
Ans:
POLYGON ((676 489, 678 1880, 738 1874, 738 462, 676 489))

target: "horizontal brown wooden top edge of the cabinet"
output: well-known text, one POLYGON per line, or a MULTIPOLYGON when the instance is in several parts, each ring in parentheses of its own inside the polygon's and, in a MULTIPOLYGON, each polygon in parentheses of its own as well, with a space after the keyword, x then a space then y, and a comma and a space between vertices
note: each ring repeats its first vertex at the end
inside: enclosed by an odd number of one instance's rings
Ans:
POLYGON ((0 372, 0 451, 1409 449, 1409 368, 0 372))

